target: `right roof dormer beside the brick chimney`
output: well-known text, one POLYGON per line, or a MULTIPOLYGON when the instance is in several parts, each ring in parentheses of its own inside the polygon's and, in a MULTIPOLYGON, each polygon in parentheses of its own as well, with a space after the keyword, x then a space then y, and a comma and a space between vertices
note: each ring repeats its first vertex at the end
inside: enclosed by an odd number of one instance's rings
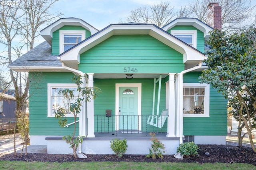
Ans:
POLYGON ((204 53, 204 42, 213 28, 196 18, 177 18, 162 29, 204 53))

